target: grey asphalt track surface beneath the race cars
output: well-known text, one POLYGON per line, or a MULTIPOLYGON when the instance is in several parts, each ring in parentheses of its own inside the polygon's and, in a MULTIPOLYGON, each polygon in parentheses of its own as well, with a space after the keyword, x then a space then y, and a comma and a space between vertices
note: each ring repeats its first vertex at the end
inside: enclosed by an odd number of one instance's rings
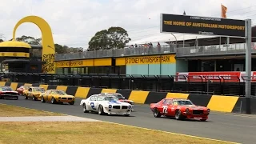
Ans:
POLYGON ((51 104, 25 100, 20 96, 18 100, 1 99, 0 103, 23 106, 37 110, 47 110, 62 114, 69 114, 83 118, 93 118, 101 121, 116 122, 130 126, 145 127, 154 130, 164 130, 179 134, 189 134, 203 138, 214 138, 229 142, 245 144, 256 143, 256 116, 242 114, 212 113, 207 122, 192 120, 177 121, 174 118, 154 118, 149 106, 136 105, 130 117, 101 116, 83 113, 79 106, 81 98, 77 98, 74 105, 51 104))

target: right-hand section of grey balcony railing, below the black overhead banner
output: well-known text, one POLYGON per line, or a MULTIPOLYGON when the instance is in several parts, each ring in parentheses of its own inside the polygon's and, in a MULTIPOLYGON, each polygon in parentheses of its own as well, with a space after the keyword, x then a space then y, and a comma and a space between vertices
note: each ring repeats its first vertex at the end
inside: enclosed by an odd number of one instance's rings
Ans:
MULTIPOLYGON (((252 43, 252 53, 256 53, 256 43, 252 43)), ((230 45, 192 46, 178 48, 176 57, 191 57, 199 55, 217 54, 245 54, 246 43, 235 43, 230 45)))

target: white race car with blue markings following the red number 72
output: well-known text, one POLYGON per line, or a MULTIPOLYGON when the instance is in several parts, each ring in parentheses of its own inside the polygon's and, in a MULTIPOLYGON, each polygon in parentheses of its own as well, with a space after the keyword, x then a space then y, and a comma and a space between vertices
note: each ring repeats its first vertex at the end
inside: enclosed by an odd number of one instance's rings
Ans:
POLYGON ((80 105, 84 113, 89 111, 102 114, 118 114, 130 116, 132 106, 127 102, 120 102, 118 98, 110 94, 94 94, 89 98, 82 99, 80 105))

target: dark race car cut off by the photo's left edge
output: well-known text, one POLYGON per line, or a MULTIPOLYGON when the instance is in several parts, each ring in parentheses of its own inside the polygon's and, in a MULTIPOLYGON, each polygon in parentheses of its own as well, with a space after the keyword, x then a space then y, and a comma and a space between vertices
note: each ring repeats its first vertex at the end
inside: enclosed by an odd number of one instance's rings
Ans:
POLYGON ((18 99, 18 92, 14 91, 10 86, 0 86, 0 99, 3 98, 18 99))

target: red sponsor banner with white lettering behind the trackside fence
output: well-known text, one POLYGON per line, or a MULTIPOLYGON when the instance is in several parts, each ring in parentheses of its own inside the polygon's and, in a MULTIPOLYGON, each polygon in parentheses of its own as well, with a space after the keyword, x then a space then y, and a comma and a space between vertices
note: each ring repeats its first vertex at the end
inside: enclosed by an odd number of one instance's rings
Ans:
MULTIPOLYGON (((245 71, 185 72, 177 73, 175 82, 245 82, 245 71)), ((256 71, 251 72, 251 82, 256 82, 256 71)))

